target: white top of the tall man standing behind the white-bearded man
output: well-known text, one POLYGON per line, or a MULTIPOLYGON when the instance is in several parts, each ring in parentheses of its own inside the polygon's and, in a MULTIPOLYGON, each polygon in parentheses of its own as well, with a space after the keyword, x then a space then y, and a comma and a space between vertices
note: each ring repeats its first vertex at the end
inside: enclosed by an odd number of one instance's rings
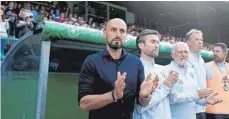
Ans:
MULTIPOLYGON (((206 70, 203 58, 200 54, 189 52, 189 64, 194 68, 197 74, 197 82, 200 89, 207 88, 206 70)), ((205 112, 206 106, 196 104, 196 113, 205 112)))

